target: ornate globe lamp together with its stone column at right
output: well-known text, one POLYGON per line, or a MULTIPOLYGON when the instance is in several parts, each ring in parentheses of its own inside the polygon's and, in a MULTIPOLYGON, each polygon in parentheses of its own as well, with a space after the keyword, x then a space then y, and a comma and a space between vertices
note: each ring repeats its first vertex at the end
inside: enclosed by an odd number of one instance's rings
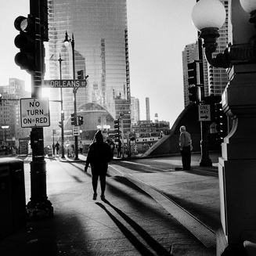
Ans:
POLYGON ((218 0, 200 0, 192 13, 208 63, 229 68, 222 108, 233 124, 218 160, 222 229, 217 232, 217 255, 256 255, 256 0, 229 4, 230 43, 217 56, 213 53, 226 18, 224 6, 218 0))

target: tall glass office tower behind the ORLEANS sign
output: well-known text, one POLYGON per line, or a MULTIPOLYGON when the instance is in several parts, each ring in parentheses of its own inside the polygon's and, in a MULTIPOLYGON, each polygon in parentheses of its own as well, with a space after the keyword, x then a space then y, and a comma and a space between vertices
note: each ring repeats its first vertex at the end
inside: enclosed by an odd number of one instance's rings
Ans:
MULTIPOLYGON (((71 44, 65 47, 65 33, 74 34, 75 79, 78 70, 88 75, 86 88, 78 88, 78 115, 84 116, 82 128, 96 130, 124 114, 124 130, 131 127, 128 31, 126 0, 49 0, 50 79, 73 79, 71 44), (60 56, 59 56, 60 55, 60 56), (61 67, 60 65, 61 64, 61 67), (92 114, 94 113, 94 114, 92 114)), ((74 113, 72 88, 63 88, 65 137, 74 113)), ((60 99, 60 89, 52 88, 50 99, 60 99)), ((51 131, 59 129, 60 103, 51 102, 51 131)), ((45 129, 46 130, 46 129, 45 129)), ((58 137, 58 132, 56 132, 58 137)), ((68 138, 65 138, 68 139, 68 138)), ((47 140, 47 139, 46 139, 47 140)), ((52 139, 49 139, 50 141, 52 139)))

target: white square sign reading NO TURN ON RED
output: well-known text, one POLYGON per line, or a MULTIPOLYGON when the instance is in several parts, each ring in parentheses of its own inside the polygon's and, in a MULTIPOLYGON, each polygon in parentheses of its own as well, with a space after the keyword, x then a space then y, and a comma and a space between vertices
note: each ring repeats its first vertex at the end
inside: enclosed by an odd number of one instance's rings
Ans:
POLYGON ((20 99, 21 127, 50 126, 49 98, 20 99))

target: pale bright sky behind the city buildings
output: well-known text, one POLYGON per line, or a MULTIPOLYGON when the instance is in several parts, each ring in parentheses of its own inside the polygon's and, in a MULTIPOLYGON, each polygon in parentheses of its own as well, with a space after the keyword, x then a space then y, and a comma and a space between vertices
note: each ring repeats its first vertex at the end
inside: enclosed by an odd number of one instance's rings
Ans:
MULTIPOLYGON (((131 96, 139 99, 141 120, 146 120, 146 97, 150 98, 152 121, 158 114, 159 121, 169 121, 172 126, 184 109, 182 51, 197 40, 191 20, 196 2, 127 0, 131 96)), ((19 31, 13 25, 17 16, 29 13, 29 0, 2 1, 0 8, 0 85, 19 78, 31 91, 31 76, 14 62, 19 52, 14 38, 19 31)))

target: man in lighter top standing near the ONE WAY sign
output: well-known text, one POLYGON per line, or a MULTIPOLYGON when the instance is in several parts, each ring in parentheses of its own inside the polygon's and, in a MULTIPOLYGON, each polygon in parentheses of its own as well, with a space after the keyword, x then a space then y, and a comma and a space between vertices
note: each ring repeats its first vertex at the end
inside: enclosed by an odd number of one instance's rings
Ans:
POLYGON ((182 170, 189 171, 191 164, 191 135, 186 132, 186 127, 183 125, 179 128, 179 131, 181 132, 179 135, 179 149, 182 154, 182 170))

